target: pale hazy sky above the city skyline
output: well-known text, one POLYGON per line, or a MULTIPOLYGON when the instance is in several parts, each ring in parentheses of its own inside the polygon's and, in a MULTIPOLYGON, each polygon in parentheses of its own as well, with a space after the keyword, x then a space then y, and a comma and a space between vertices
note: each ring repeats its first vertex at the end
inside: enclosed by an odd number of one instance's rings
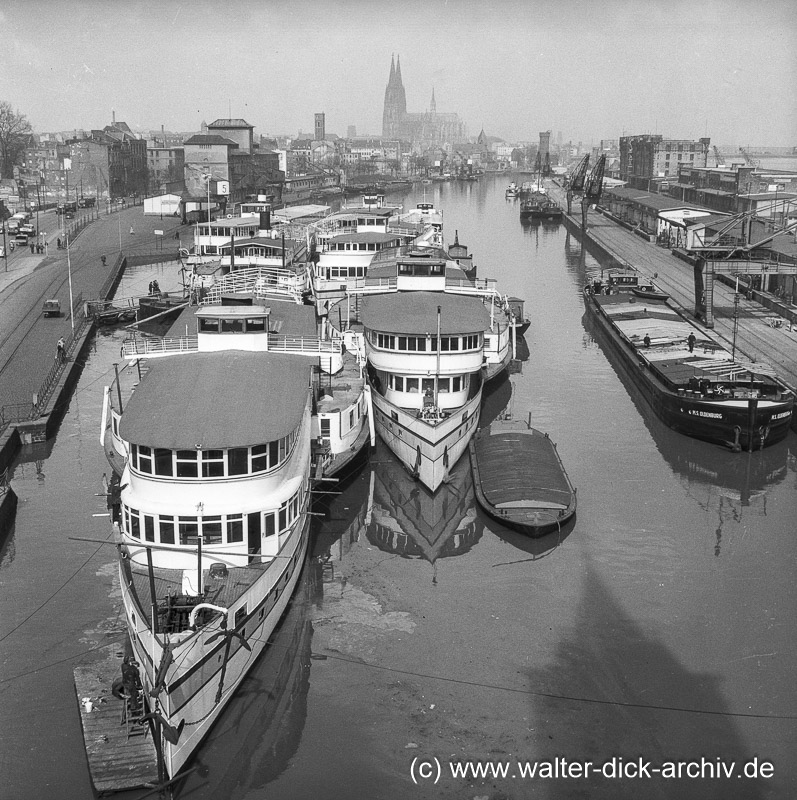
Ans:
POLYGON ((34 130, 381 134, 391 55, 407 110, 475 136, 561 131, 797 145, 793 0, 3 0, 0 100, 34 130))

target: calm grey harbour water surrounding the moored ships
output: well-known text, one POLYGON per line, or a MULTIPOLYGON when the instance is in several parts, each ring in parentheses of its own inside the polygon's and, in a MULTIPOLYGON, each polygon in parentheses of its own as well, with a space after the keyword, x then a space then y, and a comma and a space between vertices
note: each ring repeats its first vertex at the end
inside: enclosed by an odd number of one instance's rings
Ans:
MULTIPOLYGON (((733 455, 651 417, 585 318, 599 262, 564 226, 521 225, 509 179, 425 199, 479 277, 526 300, 529 357, 485 414, 511 395, 550 434, 575 523, 511 533, 475 506, 467 459, 431 497, 377 447, 320 498, 289 613, 180 797, 797 796, 797 438, 733 455), (592 765, 561 777, 554 759, 592 765), (454 772, 488 762, 506 777, 454 772), (669 762, 681 779, 656 772, 669 762)), ((119 293, 152 277, 177 281, 173 264, 137 268, 119 293)), ((72 670, 123 626, 112 548, 70 537, 107 535, 99 418, 123 335, 97 337, 57 439, 14 470, 2 800, 92 797, 72 670)))

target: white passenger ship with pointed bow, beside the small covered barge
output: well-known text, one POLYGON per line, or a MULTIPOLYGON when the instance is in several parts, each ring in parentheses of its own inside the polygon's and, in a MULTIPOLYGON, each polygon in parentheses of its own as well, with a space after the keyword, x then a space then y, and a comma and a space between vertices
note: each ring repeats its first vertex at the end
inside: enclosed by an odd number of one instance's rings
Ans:
POLYGON ((347 303, 347 324, 353 300, 363 326, 374 426, 432 491, 467 448, 484 380, 511 356, 492 282, 452 264, 442 251, 415 250, 372 269, 347 303))

